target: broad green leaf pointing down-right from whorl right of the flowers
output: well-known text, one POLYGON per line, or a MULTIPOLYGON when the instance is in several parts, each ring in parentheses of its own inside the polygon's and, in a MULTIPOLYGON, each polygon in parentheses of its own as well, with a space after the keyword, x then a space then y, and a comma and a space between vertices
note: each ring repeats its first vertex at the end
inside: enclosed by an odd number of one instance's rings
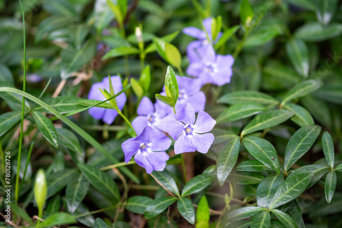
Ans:
POLYGON ((278 154, 269 141, 259 137, 247 137, 243 139, 243 142, 248 152, 254 158, 257 158, 259 162, 273 169, 276 173, 280 173, 278 154))

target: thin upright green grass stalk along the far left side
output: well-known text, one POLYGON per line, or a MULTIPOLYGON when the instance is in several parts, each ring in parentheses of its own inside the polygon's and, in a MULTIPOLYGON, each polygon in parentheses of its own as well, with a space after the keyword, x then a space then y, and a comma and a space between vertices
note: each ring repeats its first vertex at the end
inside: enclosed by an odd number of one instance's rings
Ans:
MULTIPOLYGON (((21 0, 19 0, 21 4, 21 0)), ((24 72, 23 72, 23 91, 26 90, 26 38, 25 38, 25 15, 23 5, 21 4, 21 13, 23 14, 23 43, 24 43, 24 72)), ((19 136, 19 149, 18 149, 18 165, 16 168, 16 190, 14 200, 18 203, 19 196, 19 173, 21 169, 21 149, 23 147, 23 128, 24 128, 24 115, 25 115, 25 96, 23 96, 23 106, 21 107, 21 133, 19 136)))

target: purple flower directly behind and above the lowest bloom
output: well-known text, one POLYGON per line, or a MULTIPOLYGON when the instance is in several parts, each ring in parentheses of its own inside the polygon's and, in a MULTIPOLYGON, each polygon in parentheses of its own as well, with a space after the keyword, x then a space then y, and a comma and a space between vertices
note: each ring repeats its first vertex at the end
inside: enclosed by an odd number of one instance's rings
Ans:
POLYGON ((161 130, 165 132, 164 124, 174 119, 174 113, 170 106, 159 101, 153 105, 147 97, 142 98, 137 107, 137 115, 132 122, 137 134, 140 134, 146 126, 150 126, 155 131, 161 130))

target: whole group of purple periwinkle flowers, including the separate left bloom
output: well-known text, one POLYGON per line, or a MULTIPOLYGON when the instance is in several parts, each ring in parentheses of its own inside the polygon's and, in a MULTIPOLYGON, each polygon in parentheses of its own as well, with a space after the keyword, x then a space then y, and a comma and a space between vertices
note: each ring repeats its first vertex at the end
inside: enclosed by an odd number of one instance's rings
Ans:
MULTIPOLYGON (((166 161, 169 159, 166 150, 174 140, 174 153, 185 152, 207 153, 213 143, 214 136, 209 133, 216 122, 205 109, 206 97, 200 91, 202 85, 212 83, 214 85, 224 85, 229 83, 232 76, 231 66, 234 63, 231 55, 216 55, 212 44, 217 40, 207 40, 211 38, 211 18, 203 21, 206 31, 201 31, 195 27, 187 27, 183 30, 187 35, 192 35, 198 40, 190 42, 187 48, 189 58, 189 68, 187 76, 176 76, 179 85, 179 97, 174 110, 163 102, 153 102, 147 98, 142 98, 138 108, 137 117, 132 122, 132 126, 137 137, 128 139, 122 143, 124 161, 129 162, 134 156, 135 162, 146 169, 147 173, 153 171, 163 171, 166 161), (197 119, 196 119, 196 113, 197 119)), ((218 34, 220 38, 222 34, 218 34)), ((111 76, 114 91, 122 89, 120 76, 111 76)), ((109 78, 106 77, 101 83, 95 83, 90 89, 88 98, 95 100, 105 100, 101 94, 101 89, 109 91, 109 78)), ((166 95, 165 88, 161 93, 166 95)), ((118 108, 121 110, 126 102, 124 93, 116 98, 118 108)), ((107 124, 111 124, 117 111, 114 109, 102 109, 94 107, 89 111, 90 115, 96 119, 103 119, 107 124)))

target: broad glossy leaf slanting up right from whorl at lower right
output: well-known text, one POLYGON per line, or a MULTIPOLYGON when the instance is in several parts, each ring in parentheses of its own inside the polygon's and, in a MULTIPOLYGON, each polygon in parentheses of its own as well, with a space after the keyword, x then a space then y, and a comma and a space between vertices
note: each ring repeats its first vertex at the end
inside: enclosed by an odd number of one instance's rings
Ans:
POLYGON ((312 177, 312 173, 304 172, 289 175, 287 180, 282 182, 274 194, 274 197, 269 203, 269 208, 278 208, 280 205, 288 203, 289 201, 299 197, 306 189, 306 186, 310 183, 312 177))

